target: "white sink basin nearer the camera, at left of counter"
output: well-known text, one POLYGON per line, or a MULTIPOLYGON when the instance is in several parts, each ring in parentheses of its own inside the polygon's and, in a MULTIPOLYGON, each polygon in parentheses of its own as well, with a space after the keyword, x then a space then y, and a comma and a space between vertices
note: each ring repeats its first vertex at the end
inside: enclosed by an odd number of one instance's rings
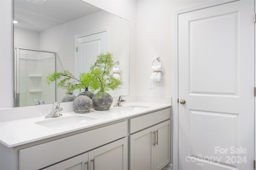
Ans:
POLYGON ((53 117, 49 120, 37 121, 35 123, 44 127, 57 128, 74 125, 76 123, 84 123, 95 119, 98 119, 98 117, 86 115, 72 115, 67 117, 53 117))

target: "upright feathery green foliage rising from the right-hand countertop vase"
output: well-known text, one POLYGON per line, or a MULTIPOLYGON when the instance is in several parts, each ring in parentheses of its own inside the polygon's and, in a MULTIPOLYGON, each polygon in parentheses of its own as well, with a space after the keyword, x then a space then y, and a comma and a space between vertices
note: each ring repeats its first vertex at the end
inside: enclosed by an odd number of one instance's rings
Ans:
POLYGON ((120 88, 121 81, 110 75, 113 66, 114 60, 112 53, 101 53, 97 56, 96 62, 90 67, 90 87, 93 91, 99 89, 99 93, 105 93, 110 89, 116 90, 120 88))

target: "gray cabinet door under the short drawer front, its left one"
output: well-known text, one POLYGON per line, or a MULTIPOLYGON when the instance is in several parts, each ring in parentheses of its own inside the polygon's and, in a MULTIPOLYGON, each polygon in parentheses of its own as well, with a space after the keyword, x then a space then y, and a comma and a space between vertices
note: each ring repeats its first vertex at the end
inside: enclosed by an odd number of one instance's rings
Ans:
POLYGON ((148 128, 130 135, 130 170, 153 170, 153 132, 148 128))

